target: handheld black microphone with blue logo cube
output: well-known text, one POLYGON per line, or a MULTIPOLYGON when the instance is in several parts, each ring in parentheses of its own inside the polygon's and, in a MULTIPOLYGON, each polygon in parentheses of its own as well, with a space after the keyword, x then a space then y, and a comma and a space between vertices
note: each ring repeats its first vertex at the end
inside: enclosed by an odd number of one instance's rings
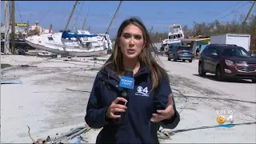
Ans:
MULTIPOLYGON (((120 97, 127 98, 128 89, 134 88, 134 71, 126 70, 124 76, 121 77, 119 86, 123 88, 122 94, 120 97)), ((118 104, 125 105, 125 102, 119 101, 118 104)), ((116 118, 115 122, 121 124, 125 120, 126 112, 117 112, 115 115, 121 115, 120 118, 116 118)))

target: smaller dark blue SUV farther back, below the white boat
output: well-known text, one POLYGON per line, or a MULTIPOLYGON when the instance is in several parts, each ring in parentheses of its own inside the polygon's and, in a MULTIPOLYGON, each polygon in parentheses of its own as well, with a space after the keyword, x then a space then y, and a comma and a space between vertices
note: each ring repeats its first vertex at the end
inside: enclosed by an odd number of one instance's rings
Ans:
POLYGON ((191 46, 170 46, 170 50, 167 52, 168 61, 170 59, 174 59, 174 62, 177 60, 182 60, 185 62, 189 60, 192 62, 194 59, 194 51, 192 50, 191 46))

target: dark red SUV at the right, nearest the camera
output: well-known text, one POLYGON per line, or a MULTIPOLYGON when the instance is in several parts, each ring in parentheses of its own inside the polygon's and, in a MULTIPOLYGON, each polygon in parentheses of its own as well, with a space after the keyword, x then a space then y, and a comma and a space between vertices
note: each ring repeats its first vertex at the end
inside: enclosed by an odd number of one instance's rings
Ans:
POLYGON ((256 82, 256 58, 241 46, 210 44, 200 54, 198 73, 215 74, 218 81, 237 78, 256 82))

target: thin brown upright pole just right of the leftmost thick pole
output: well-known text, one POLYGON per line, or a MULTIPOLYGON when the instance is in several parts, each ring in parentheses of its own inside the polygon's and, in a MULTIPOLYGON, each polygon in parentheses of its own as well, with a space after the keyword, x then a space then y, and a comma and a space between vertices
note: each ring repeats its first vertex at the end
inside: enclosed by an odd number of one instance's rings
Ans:
POLYGON ((15 2, 11 1, 11 52, 15 51, 15 2))

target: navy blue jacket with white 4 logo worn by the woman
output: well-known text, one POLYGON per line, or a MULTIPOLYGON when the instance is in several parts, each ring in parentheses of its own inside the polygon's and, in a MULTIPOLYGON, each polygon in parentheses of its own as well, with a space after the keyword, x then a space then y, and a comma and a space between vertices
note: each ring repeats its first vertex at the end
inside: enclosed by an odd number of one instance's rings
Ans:
POLYGON ((119 81, 118 75, 107 66, 102 68, 95 78, 85 120, 92 128, 103 127, 96 143, 159 143, 159 125, 174 129, 180 121, 174 103, 173 118, 158 123, 150 122, 156 109, 166 108, 168 96, 171 94, 170 84, 163 78, 157 92, 150 92, 150 70, 147 66, 141 66, 134 75, 134 89, 128 90, 126 118, 120 126, 105 116, 111 102, 121 95, 122 87, 119 87, 119 81))

